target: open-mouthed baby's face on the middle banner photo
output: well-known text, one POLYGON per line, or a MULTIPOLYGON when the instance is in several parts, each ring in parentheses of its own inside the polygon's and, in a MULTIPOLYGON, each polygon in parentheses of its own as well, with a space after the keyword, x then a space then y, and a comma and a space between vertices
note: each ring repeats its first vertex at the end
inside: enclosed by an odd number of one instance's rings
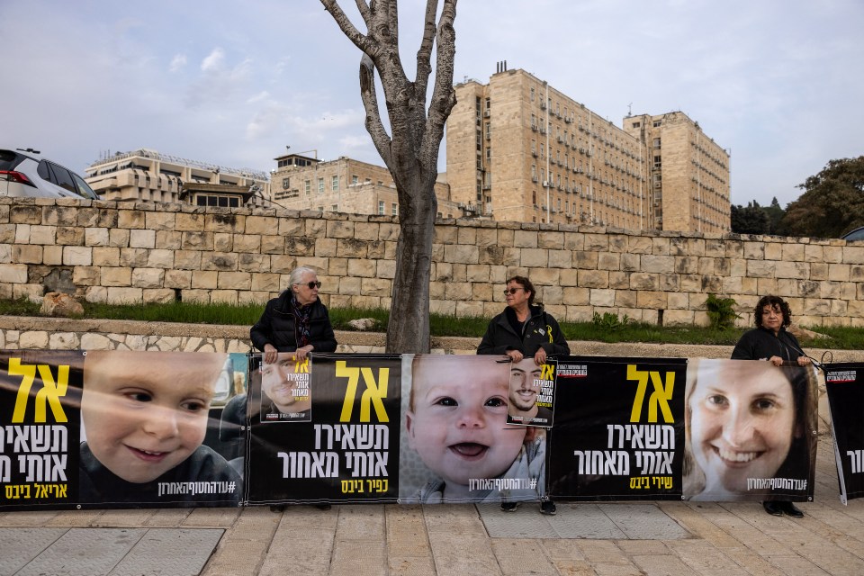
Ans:
POLYGON ((495 478, 525 439, 507 421, 509 366, 488 356, 417 356, 406 415, 409 445, 447 484, 495 478), (500 370, 491 370, 500 367, 500 370))

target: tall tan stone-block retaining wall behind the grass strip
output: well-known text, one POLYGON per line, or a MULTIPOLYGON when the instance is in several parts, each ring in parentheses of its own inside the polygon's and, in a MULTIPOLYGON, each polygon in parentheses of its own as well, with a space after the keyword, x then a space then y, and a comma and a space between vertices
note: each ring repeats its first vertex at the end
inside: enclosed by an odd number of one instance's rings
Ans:
MULTIPOLYGON (((153 202, 0 199, 0 298, 59 290, 90 302, 264 302, 295 266, 330 306, 388 307, 398 223, 388 216, 153 202)), ((566 224, 438 220, 431 310, 491 317, 529 275, 563 320, 614 312, 707 323, 708 293, 743 318, 786 298, 803 326, 864 326, 864 244, 566 224)))

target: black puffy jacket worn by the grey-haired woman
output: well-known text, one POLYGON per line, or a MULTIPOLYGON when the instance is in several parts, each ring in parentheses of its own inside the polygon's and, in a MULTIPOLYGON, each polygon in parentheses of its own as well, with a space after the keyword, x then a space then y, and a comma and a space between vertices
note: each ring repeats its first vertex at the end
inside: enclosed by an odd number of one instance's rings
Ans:
MULTIPOLYGON (((316 300, 309 319, 309 340, 313 352, 335 352, 336 335, 330 325, 327 306, 316 300)), ((272 344, 279 352, 293 352, 297 347, 297 331, 291 306, 291 291, 267 302, 261 319, 249 330, 252 344, 264 352, 265 344, 272 344)))

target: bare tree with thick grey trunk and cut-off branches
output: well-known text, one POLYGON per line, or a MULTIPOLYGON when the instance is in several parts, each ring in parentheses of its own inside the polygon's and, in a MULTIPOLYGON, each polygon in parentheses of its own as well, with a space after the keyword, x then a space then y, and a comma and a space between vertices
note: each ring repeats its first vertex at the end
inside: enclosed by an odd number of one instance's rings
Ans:
POLYGON ((390 169, 399 198, 399 242, 393 279, 387 351, 428 353, 429 273, 435 231, 438 153, 444 124, 456 103, 453 89, 456 0, 427 0, 423 38, 417 51, 417 75, 405 75, 399 56, 397 0, 355 0, 367 33, 356 27, 338 0, 321 0, 348 40, 363 51, 360 58, 360 97, 366 112, 366 131, 390 169), (437 23, 436 23, 437 17, 437 23), (435 78, 432 49, 436 50, 435 78), (390 133, 384 128, 374 74, 384 91, 390 133))

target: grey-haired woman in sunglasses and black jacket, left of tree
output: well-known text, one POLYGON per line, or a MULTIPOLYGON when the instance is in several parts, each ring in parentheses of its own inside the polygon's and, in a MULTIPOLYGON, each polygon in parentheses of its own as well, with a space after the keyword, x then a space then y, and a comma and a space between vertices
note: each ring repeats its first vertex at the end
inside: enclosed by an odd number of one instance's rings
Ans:
POLYGON ((327 307, 318 298, 321 283, 314 270, 294 268, 291 285, 267 302, 261 319, 249 330, 252 344, 273 364, 279 352, 293 352, 302 360, 310 352, 334 352, 336 336, 327 307))

